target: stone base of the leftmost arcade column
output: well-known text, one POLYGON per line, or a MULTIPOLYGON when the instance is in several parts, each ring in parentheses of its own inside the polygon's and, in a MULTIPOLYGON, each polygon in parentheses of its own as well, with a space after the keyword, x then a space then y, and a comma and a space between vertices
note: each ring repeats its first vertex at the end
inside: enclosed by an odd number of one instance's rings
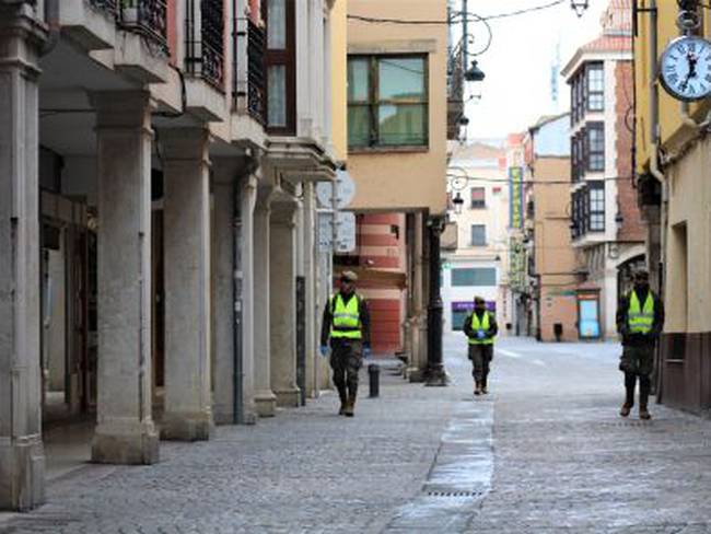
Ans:
POLYGON ((45 502, 45 452, 42 439, 11 442, 0 438, 0 510, 26 512, 45 502))

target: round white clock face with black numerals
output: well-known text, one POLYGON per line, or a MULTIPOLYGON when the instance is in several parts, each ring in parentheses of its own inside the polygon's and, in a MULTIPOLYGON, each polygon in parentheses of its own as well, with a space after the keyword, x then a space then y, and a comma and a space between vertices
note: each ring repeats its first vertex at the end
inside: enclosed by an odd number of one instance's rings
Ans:
POLYGON ((711 94, 711 43, 678 37, 662 55, 660 79, 675 98, 696 101, 711 94))

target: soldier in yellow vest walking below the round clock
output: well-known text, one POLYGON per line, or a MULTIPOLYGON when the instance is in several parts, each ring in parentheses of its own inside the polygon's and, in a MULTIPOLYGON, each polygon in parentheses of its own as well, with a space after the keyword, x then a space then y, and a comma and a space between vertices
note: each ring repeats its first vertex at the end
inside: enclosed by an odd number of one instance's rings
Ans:
POLYGON ((622 337, 619 369, 625 373, 626 398, 620 416, 634 406, 634 387, 640 380, 640 419, 651 419, 648 403, 654 370, 654 345, 664 327, 664 305, 650 289, 649 274, 634 275, 634 288, 622 297, 617 309, 617 330, 622 337))

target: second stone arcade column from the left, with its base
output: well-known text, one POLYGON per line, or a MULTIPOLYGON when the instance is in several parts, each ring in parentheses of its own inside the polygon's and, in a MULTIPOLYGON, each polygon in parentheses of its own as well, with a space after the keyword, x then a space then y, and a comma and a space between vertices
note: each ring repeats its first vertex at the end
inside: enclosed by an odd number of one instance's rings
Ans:
POLYGON ((98 181, 98 405, 92 460, 152 464, 150 95, 102 92, 98 181))

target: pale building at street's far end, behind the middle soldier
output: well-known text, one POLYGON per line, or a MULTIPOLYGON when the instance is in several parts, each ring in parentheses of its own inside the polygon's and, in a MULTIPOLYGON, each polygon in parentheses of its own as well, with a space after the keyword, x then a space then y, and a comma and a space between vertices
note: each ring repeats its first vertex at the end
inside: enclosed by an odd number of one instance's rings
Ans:
POLYGON ((506 287, 509 256, 509 183, 503 140, 452 143, 450 220, 456 247, 443 254, 442 297, 445 332, 461 330, 482 297, 497 321, 511 323, 506 287))

